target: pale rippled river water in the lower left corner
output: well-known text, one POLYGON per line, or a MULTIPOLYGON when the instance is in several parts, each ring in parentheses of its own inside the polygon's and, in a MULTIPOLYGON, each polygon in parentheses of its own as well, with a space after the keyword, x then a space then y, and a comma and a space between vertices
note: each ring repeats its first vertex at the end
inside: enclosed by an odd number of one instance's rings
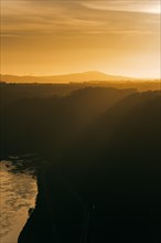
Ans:
POLYGON ((12 170, 11 161, 0 162, 0 243, 17 243, 35 205, 36 180, 29 173, 12 170))

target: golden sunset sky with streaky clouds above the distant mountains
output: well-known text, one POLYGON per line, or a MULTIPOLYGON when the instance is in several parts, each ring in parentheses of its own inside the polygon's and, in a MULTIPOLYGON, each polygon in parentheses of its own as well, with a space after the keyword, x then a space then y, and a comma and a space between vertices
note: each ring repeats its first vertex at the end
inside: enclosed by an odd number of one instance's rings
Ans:
POLYGON ((160 0, 1 0, 2 74, 161 76, 160 0))

